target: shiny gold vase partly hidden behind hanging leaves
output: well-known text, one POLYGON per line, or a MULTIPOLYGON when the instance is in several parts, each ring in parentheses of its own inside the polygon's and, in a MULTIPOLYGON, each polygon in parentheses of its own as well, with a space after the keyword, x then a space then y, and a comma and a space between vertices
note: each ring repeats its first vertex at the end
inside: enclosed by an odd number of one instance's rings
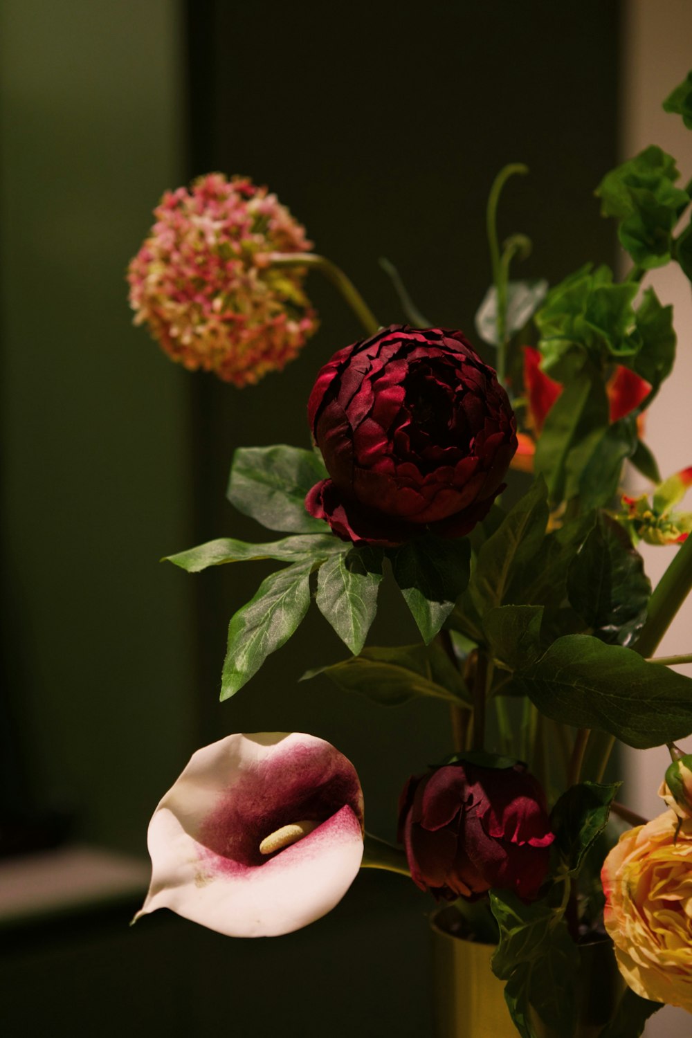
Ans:
MULTIPOLYGON (((433 918, 433 978, 436 1038, 517 1038, 504 1001, 504 981, 491 969, 494 945, 452 936, 444 930, 445 909, 433 918)), ((609 940, 579 948, 575 1038, 598 1038, 612 1016, 625 984, 609 940)), ((563 1038, 537 1016, 538 1038, 563 1038)))

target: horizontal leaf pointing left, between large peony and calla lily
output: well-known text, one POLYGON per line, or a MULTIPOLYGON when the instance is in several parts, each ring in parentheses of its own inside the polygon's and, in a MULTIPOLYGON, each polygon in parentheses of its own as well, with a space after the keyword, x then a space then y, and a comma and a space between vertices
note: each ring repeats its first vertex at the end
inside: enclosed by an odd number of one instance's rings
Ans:
POLYGON ((398 706, 417 695, 458 705, 471 702, 459 671, 437 641, 363 649, 359 656, 308 671, 303 680, 317 674, 327 675, 344 691, 360 692, 385 706, 398 706))

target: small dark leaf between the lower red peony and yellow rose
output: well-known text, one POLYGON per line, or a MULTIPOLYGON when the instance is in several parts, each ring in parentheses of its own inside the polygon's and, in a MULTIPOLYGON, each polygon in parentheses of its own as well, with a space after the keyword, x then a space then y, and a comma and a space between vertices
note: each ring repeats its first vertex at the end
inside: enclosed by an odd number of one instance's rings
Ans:
POLYGON ((560 796, 550 814, 553 844, 570 875, 577 875, 586 853, 606 827, 610 804, 620 783, 592 782, 572 786, 560 796))

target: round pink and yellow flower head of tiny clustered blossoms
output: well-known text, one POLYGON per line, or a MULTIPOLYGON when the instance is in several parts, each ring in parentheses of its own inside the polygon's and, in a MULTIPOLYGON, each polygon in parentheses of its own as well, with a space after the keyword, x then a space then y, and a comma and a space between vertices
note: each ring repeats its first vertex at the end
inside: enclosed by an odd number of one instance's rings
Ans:
POLYGON ((167 191, 128 271, 135 323, 191 371, 237 386, 293 359, 316 330, 305 271, 271 252, 305 252, 305 230, 267 188, 221 173, 167 191))

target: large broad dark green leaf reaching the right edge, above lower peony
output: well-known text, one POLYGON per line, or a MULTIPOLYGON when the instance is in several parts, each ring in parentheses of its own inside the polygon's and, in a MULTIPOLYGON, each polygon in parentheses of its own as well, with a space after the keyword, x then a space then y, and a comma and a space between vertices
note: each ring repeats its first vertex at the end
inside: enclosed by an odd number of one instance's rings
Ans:
POLYGON ((588 634, 558 638, 515 683, 547 717, 637 749, 692 733, 692 678, 588 634))

